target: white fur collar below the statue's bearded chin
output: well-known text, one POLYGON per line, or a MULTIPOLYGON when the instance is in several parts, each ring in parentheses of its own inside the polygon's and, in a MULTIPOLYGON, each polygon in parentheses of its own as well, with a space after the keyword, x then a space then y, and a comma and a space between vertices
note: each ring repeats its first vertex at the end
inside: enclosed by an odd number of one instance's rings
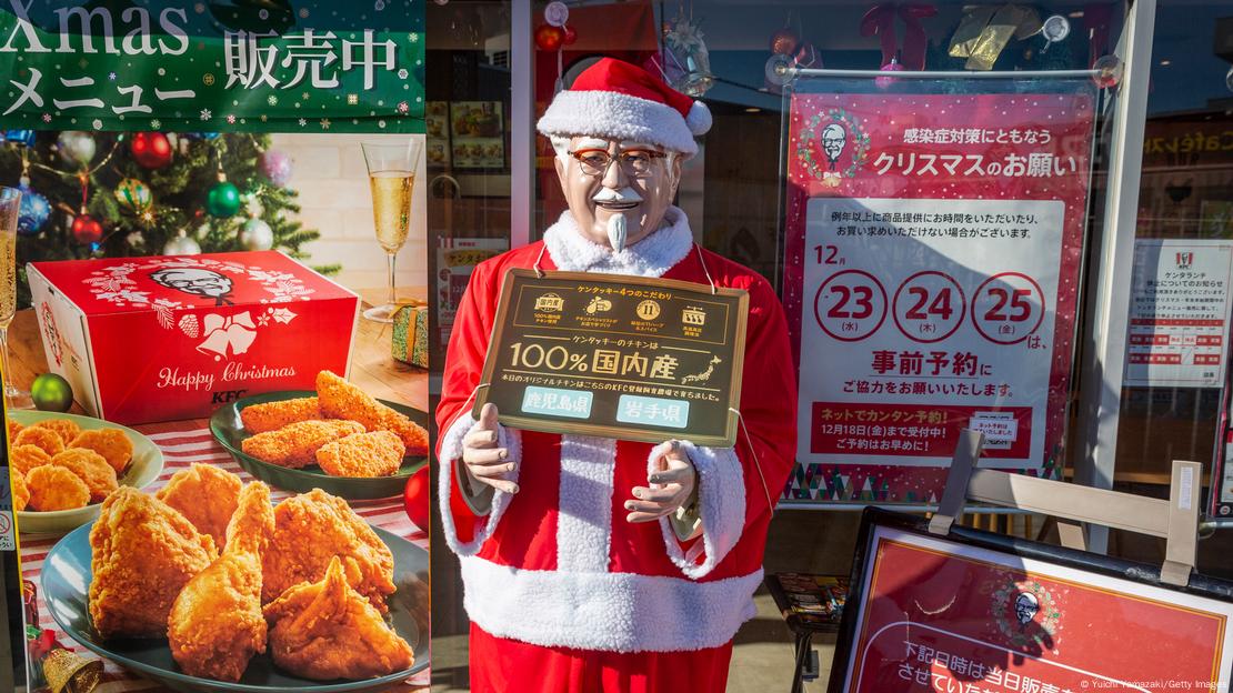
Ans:
POLYGON ((679 207, 668 207, 663 221, 667 226, 624 250, 613 252, 612 248, 582 236, 573 216, 566 210, 544 232, 544 243, 552 263, 561 270, 663 276, 663 273, 686 259, 693 249, 689 219, 679 207))

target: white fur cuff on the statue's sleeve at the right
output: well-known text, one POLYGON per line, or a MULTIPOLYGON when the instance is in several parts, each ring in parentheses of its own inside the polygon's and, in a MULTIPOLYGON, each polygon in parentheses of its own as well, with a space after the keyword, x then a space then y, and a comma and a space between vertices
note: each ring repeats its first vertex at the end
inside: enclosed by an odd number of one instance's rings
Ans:
MULTIPOLYGON (((663 443, 651 450, 646 460, 647 474, 653 471, 655 460, 670 445, 663 443)), ((681 550, 668 518, 660 518, 660 530, 672 562, 686 577, 699 580, 715 570, 745 530, 745 472, 731 448, 698 448, 688 440, 682 440, 681 448, 698 470, 698 501, 702 506, 698 514, 702 515, 702 545, 705 551, 703 562, 694 560, 695 551, 687 555, 681 550)))

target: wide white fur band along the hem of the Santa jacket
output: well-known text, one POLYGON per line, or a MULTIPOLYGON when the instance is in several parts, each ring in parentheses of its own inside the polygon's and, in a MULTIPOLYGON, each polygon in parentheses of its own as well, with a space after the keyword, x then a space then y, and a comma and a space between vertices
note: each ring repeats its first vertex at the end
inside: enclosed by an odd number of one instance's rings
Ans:
POLYGON ((762 570, 692 582, 624 572, 520 570, 461 559, 464 604, 480 628, 544 647, 674 652, 718 647, 753 618, 762 570))

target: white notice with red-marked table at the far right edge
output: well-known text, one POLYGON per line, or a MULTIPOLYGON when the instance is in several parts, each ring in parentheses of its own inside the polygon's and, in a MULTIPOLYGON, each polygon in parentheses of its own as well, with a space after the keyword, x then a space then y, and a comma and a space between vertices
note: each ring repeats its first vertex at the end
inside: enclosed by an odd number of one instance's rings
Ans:
POLYGON ((1127 387, 1219 387, 1228 354, 1233 242, 1139 239, 1127 387))

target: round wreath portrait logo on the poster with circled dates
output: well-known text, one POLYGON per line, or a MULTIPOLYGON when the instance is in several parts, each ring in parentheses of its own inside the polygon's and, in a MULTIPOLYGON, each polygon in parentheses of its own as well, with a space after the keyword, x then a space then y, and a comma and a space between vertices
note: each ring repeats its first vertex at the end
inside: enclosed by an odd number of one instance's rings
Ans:
POLYGON ((869 163, 869 133, 843 109, 814 113, 797 133, 797 163, 826 187, 840 187, 869 163))

